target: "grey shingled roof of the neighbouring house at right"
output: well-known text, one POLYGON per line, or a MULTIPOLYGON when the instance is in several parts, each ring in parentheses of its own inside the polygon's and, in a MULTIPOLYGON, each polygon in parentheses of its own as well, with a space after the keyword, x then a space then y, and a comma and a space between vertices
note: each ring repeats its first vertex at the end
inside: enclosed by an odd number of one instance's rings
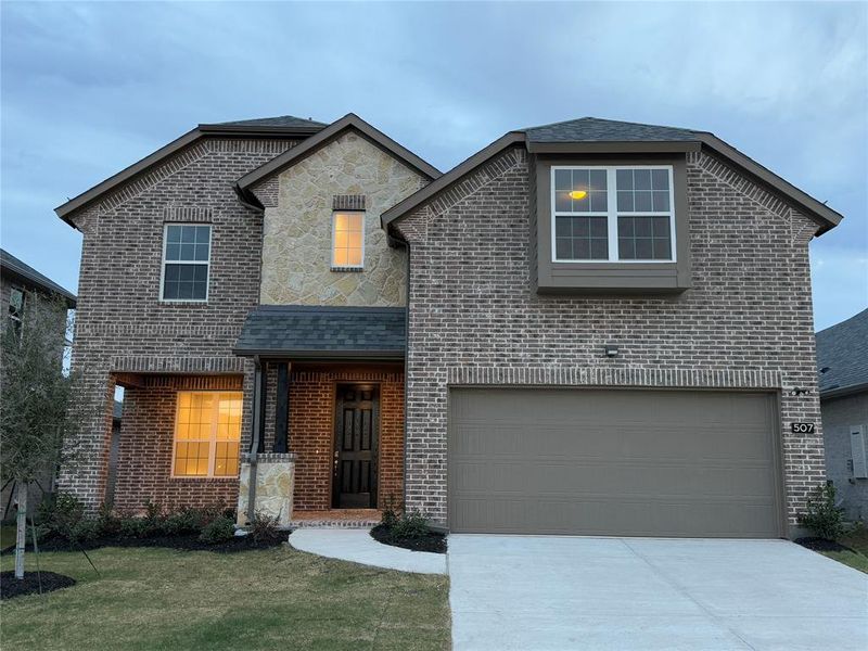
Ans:
POLYGON ((816 336, 820 397, 868 392, 868 309, 816 336))

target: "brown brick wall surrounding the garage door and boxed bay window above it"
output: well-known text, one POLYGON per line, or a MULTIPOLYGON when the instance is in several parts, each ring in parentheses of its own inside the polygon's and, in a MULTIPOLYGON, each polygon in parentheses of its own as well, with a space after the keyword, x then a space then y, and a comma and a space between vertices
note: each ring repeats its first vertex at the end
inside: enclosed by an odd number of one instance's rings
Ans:
POLYGON ((449 386, 744 387, 779 393, 794 524, 825 478, 807 252, 817 226, 719 161, 690 154, 692 289, 542 296, 531 289, 531 169, 524 149, 507 150, 397 224, 412 251, 408 506, 447 520, 449 386), (618 357, 605 358, 608 343, 618 357), (817 432, 792 434, 791 421, 814 421, 817 432))

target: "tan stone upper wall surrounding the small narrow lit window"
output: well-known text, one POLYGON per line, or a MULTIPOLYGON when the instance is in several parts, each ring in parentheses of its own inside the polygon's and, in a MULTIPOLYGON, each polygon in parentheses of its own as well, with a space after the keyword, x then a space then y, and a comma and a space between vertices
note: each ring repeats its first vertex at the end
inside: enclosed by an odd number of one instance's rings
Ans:
POLYGON ((261 303, 406 305, 406 253, 388 246, 380 215, 425 181, 356 131, 281 173, 276 196, 257 193, 266 206, 261 303), (363 271, 331 269, 332 199, 346 194, 366 197, 363 271))

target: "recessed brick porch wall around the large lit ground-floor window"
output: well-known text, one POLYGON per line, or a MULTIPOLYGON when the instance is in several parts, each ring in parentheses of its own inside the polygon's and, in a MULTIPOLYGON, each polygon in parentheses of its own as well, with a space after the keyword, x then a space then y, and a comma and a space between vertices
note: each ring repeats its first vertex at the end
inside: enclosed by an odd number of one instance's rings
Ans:
POLYGON ((238 477, 173 477, 171 452, 179 391, 241 391, 242 375, 150 376, 124 393, 114 508, 140 512, 145 502, 169 509, 238 501, 238 477))

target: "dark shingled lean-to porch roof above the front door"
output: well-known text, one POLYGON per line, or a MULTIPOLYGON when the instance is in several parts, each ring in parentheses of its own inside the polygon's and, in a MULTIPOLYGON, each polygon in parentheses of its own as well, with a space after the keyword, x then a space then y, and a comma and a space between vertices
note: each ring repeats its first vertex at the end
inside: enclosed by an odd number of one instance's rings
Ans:
POLYGON ((403 359, 403 307, 260 305, 247 315, 235 355, 292 359, 403 359))

